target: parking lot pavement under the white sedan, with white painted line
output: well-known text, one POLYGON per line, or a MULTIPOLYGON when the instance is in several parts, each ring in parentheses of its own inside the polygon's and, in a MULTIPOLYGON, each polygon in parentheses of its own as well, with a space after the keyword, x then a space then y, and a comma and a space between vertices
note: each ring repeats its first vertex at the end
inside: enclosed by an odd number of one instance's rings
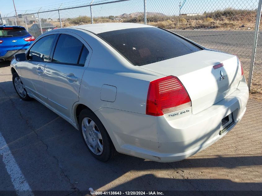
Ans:
POLYGON ((0 62, 1 191, 29 189, 33 192, 28 194, 51 195, 39 191, 58 190, 66 192, 53 195, 81 195, 79 190, 90 187, 262 190, 262 102, 249 99, 246 114, 232 131, 188 159, 157 163, 120 154, 101 163, 89 154, 81 133, 68 122, 35 100, 20 100, 8 63, 0 62))

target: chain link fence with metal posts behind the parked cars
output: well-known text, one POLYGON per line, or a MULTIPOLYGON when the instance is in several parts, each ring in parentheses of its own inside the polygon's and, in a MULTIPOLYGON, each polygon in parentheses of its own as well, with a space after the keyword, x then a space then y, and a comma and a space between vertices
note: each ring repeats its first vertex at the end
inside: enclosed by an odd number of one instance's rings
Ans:
MULTIPOLYGON (((207 48, 237 55, 248 82, 259 3, 261 0, 104 0, 16 17, 2 16, 2 22, 24 26, 35 37, 55 28, 81 24, 146 23, 171 30, 207 48)), ((251 93, 262 95, 260 33, 251 93)))

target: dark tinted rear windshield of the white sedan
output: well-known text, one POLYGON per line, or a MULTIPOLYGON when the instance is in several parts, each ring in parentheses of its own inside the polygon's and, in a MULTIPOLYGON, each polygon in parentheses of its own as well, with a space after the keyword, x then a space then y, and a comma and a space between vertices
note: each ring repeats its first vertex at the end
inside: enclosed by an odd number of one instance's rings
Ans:
POLYGON ((98 35, 136 66, 202 50, 161 28, 128 28, 98 33, 98 35))

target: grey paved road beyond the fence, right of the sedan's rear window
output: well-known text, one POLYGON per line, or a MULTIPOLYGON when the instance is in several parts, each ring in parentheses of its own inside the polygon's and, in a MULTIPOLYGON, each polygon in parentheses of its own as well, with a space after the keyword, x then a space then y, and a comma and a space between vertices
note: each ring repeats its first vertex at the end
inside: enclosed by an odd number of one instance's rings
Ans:
MULTIPOLYGON (((245 68, 249 68, 253 49, 253 31, 173 30, 210 49, 236 54, 245 68)), ((259 33, 256 63, 262 64, 262 34, 259 33)))

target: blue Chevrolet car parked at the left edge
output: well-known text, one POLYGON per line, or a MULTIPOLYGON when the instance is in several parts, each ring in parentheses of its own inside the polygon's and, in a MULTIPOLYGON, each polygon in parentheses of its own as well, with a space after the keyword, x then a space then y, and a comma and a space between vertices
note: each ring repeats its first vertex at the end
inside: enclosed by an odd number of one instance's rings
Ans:
POLYGON ((0 26, 0 61, 11 60, 15 54, 24 53, 34 40, 24 27, 0 26))

